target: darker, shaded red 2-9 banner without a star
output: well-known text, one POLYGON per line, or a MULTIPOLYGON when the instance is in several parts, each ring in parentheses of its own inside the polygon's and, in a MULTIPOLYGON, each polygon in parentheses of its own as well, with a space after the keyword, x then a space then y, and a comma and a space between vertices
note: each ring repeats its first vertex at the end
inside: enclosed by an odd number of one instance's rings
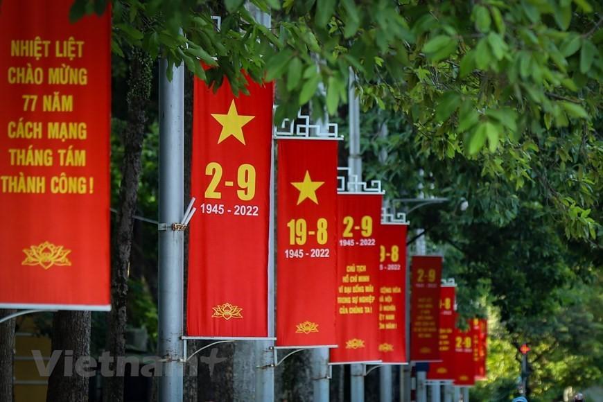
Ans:
POLYGON ((412 256, 410 272, 410 360, 437 361, 442 256, 412 256))

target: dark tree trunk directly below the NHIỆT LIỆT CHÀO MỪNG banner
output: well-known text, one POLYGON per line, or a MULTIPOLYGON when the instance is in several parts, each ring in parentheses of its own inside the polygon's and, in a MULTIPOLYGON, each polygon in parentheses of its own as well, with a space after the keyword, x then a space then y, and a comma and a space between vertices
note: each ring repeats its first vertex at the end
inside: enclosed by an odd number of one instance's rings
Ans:
MULTIPOLYGON (((58 311, 53 317, 52 353, 60 351, 58 359, 48 381, 46 401, 87 401, 88 377, 82 376, 81 369, 88 372, 87 366, 80 366, 90 356, 89 311, 58 311)), ((90 371, 94 370, 91 368, 90 371)))

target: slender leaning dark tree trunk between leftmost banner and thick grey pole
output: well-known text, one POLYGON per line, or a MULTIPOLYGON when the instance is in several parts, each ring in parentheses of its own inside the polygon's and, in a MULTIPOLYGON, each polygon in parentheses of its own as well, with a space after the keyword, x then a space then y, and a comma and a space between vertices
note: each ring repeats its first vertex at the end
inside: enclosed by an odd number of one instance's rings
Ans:
MULTIPOLYGON (((124 152, 117 209, 112 238, 111 298, 112 310, 107 323, 107 347, 114 360, 125 355, 125 326, 128 306, 128 266, 132 249, 134 215, 141 171, 141 153, 146 133, 146 108, 150 98, 152 60, 140 49, 132 49, 128 88, 128 128, 123 138, 124 152)), ((114 370, 114 363, 110 369, 114 370)), ((123 376, 104 378, 103 400, 123 401, 123 376)))

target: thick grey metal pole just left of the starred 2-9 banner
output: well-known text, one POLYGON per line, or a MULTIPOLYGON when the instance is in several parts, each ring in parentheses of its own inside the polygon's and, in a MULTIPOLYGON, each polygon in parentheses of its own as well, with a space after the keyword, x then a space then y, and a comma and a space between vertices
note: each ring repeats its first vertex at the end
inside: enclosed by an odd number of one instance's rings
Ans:
POLYGON ((184 208, 184 67, 159 61, 159 402, 182 401, 184 376, 184 231, 172 224, 184 208))

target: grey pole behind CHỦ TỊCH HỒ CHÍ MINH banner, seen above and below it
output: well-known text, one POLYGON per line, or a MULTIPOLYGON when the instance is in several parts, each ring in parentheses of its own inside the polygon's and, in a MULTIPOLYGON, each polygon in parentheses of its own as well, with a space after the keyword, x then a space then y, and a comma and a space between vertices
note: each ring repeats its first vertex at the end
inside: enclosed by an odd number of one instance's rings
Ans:
MULTIPOLYGON (((350 181, 362 181, 362 159, 360 158, 360 99, 356 96, 353 86, 354 74, 350 69, 349 75, 349 179, 350 181), (356 177, 356 180, 353 180, 356 177)), ((362 365, 355 363, 351 365, 350 386, 352 401, 363 402, 365 400, 365 377, 362 376, 362 365), (354 374, 354 373, 360 373, 354 374)))

